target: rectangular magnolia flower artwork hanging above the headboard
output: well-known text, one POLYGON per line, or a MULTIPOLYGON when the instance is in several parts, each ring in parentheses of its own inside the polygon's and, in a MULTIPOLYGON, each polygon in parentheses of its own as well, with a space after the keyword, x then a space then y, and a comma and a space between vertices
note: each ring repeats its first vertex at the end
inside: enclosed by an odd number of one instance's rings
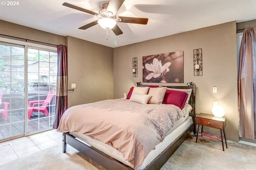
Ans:
POLYGON ((144 83, 183 83, 183 51, 142 57, 144 83))

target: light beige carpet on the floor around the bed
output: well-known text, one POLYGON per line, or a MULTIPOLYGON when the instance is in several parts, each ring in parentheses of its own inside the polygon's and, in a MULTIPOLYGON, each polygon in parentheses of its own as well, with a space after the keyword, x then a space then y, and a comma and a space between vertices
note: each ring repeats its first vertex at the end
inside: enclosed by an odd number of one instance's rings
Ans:
MULTIPOLYGON (((0 166, 1 170, 104 170, 102 166, 69 146, 65 154, 62 145, 28 155, 0 166)), ((255 170, 256 147, 190 136, 176 150, 161 170, 255 170)))

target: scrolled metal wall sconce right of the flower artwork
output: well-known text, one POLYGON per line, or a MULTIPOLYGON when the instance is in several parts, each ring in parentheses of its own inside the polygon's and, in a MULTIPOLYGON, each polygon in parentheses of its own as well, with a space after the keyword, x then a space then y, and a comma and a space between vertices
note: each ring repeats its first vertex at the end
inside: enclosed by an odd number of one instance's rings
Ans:
POLYGON ((194 76, 203 75, 202 48, 194 49, 194 76))

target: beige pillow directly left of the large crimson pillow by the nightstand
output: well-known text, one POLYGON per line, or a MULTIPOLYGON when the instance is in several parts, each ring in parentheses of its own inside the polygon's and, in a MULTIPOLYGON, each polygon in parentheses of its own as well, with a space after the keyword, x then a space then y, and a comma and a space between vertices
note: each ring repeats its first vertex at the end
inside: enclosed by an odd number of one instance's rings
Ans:
POLYGON ((166 91, 166 87, 161 88, 150 88, 148 91, 148 95, 152 95, 149 99, 149 104, 162 104, 164 100, 164 94, 166 91))

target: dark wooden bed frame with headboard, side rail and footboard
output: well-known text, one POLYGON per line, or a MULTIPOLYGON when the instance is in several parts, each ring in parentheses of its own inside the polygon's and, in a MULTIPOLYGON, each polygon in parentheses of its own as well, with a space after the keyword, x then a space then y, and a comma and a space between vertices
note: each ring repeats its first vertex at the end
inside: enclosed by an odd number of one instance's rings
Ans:
MULTIPOLYGON (((159 170, 165 162, 172 156, 172 154, 178 149, 178 147, 184 142, 184 140, 193 131, 196 134, 196 124, 195 124, 195 98, 196 98, 196 86, 168 86, 171 88, 178 89, 192 89, 189 104, 192 106, 193 110, 190 113, 193 123, 186 129, 186 131, 181 134, 174 142, 172 142, 161 154, 159 154, 144 170, 159 170)), ((66 145, 69 144, 76 150, 80 151, 87 157, 91 158, 107 170, 134 170, 130 166, 123 164, 122 162, 108 156, 104 152, 94 148, 93 146, 82 142, 80 139, 69 134, 69 132, 63 133, 63 153, 66 152, 66 145)))

